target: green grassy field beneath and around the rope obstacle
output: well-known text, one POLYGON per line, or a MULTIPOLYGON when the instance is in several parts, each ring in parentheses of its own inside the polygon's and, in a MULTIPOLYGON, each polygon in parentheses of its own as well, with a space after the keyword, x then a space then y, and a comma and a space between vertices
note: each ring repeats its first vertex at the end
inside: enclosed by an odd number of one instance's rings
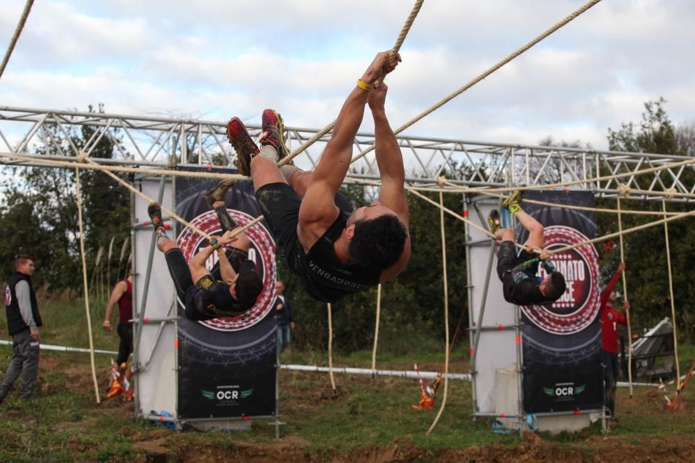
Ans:
MULTIPOLYGON (((103 307, 100 308, 103 310, 103 307)), ((44 344, 87 346, 84 308, 51 303, 42 314, 44 344), (60 328, 62 327, 62 328, 60 328)), ((101 312, 103 313, 103 312, 101 312)), ((4 318, 4 317, 0 317, 4 318)), ((99 328, 95 346, 115 349, 117 337, 99 328)), ((3 330, 4 327, 0 327, 3 330)), ((0 347, 0 370, 11 349, 0 347)), ((377 367, 423 370, 441 366, 443 355, 379 355, 377 367)), ((695 360, 695 348, 680 351, 683 370, 695 360)), ((295 352, 284 363, 326 364, 326 354, 295 352)), ((336 366, 370 367, 371 353, 334 358, 336 366)), ((105 387, 108 355, 97 355, 100 389, 105 387)), ((450 370, 468 371, 467 346, 452 353, 450 370)), ((632 398, 619 389, 619 426, 604 436, 600 426, 580 433, 496 434, 489 420, 471 420, 471 385, 450 381, 445 410, 430 435, 437 410, 417 412, 415 380, 336 375, 337 393, 327 374, 281 371, 281 439, 268 421, 254 421, 247 432, 174 433, 133 419, 133 405, 120 400, 95 403, 89 357, 42 351, 38 397, 20 401, 16 394, 0 405, 0 461, 695 461, 695 386, 685 390, 685 407, 673 412, 653 388, 637 388, 632 398)), ((694 383, 695 384, 695 383, 694 383)), ((439 398, 443 396, 440 392, 439 398)))

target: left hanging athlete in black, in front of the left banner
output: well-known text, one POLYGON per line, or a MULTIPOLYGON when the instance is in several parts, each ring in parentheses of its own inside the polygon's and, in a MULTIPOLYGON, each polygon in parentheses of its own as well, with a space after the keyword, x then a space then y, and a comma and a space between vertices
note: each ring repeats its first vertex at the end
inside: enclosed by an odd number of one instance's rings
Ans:
POLYGON ((147 207, 147 213, 156 229, 157 248, 164 253, 174 287, 184 303, 186 318, 190 320, 236 317, 253 307, 263 289, 256 264, 247 260, 250 247, 248 237, 245 233, 231 236, 237 227, 224 208, 224 195, 221 205, 218 197, 213 194, 206 194, 206 199, 215 208, 224 233, 221 237, 213 237, 210 245, 194 255, 188 264, 179 246, 166 235, 161 206, 150 203, 147 207), (232 243, 234 248, 222 248, 232 243), (209 271, 205 262, 214 251, 218 253, 219 262, 215 264, 213 271, 209 271))

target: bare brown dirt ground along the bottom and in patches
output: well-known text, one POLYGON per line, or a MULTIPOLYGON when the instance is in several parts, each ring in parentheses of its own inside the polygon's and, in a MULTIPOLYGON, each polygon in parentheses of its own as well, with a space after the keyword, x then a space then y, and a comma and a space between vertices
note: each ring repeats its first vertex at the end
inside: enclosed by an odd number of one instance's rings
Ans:
MULTIPOLYGON (((42 369, 57 367, 55 357, 44 355, 42 369)), ((84 393, 93 385, 88 364, 72 364, 64 367, 71 378, 64 385, 52 385, 41 376, 38 387, 42 396, 55 394, 58 387, 67 388, 69 392, 84 393)), ((99 378, 107 378, 108 369, 98 371, 99 378)), ((281 371, 281 375, 296 374, 281 371)), ((304 380, 312 381, 312 373, 301 373, 304 380)), ((341 376, 341 384, 348 385, 359 379, 341 376)), ((281 376, 282 380, 282 376, 281 376)), ((395 381, 384 378, 387 383, 395 381)), ((347 395, 342 387, 337 395, 326 387, 326 378, 316 378, 317 386, 311 387, 311 393, 297 393, 289 400, 293 401, 294 419, 296 416, 311 413, 311 410, 324 401, 342 400, 347 395)), ((106 388, 99 385, 100 389, 106 388)), ((288 388, 290 389, 290 388, 288 388)), ((664 414, 662 395, 651 393, 636 394, 630 401, 619 398, 619 410, 626 416, 630 414, 664 414)), ((106 414, 124 423, 133 423, 133 403, 120 400, 104 401, 101 405, 92 405, 95 414, 106 414)), ((670 410, 667 412, 671 412, 670 410)), ((683 420, 695 419, 695 412, 683 407, 678 412, 683 420)), ((94 420, 94 418, 92 418, 94 420)), ((79 423, 66 423, 66 427, 85 428, 90 426, 90 418, 79 423)), ((140 431, 142 428, 140 428, 140 431)), ((466 446, 461 448, 442 448, 436 451, 416 446, 408 437, 394 439, 385 446, 363 446, 352 451, 311 450, 312 442, 296 435, 286 435, 279 440, 252 443, 245 440, 245 433, 231 437, 227 445, 220 445, 208 439, 205 432, 174 433, 164 428, 152 428, 147 432, 134 432, 124 425, 118 433, 131 441, 138 456, 137 462, 336 462, 336 463, 386 463, 386 462, 695 462, 695 440, 683 437, 645 437, 635 439, 619 438, 611 435, 591 435, 587 432, 584 439, 571 442, 546 439, 543 436, 525 432, 523 440, 516 445, 491 444, 486 446, 466 446), (187 436, 183 436, 187 435, 187 436), (186 437, 185 439, 182 437, 186 437)), ((75 450, 79 441, 67 442, 75 450)))

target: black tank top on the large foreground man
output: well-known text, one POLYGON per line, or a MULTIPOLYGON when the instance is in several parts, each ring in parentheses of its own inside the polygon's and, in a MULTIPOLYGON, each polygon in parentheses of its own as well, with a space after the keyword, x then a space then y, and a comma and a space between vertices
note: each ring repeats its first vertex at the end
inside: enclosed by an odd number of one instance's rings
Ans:
POLYGON ((306 291, 319 301, 336 302, 347 294, 379 284, 381 270, 345 264, 336 256, 333 244, 345 229, 347 217, 350 214, 341 211, 333 225, 311 246, 309 253, 304 255, 302 252, 302 282, 306 291))

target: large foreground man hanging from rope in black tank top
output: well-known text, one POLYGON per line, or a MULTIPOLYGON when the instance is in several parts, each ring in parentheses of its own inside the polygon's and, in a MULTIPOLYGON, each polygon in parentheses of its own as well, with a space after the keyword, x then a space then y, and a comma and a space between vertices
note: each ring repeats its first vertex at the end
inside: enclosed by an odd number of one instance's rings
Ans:
MULTIPOLYGON (((347 96, 313 171, 293 165, 277 167, 288 149, 283 121, 274 110, 263 111, 260 151, 238 118, 229 121, 227 136, 237 153, 237 167, 254 182, 256 199, 279 252, 318 301, 338 301, 390 280, 410 258, 402 155, 386 119, 386 85, 373 85, 393 71, 398 61, 400 56, 389 60, 389 51, 377 54, 347 96), (382 187, 378 201, 353 211, 338 190, 350 167, 366 103, 374 117, 382 187)), ((223 180, 218 186, 222 190, 230 185, 230 180, 223 180)))

